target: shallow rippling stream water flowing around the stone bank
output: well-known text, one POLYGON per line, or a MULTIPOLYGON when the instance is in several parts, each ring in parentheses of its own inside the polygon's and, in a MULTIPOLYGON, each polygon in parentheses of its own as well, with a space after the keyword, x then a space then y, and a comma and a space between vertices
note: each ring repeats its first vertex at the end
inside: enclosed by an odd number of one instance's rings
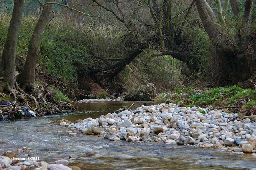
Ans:
MULTIPOLYGON (((68 119, 96 118, 112 113, 122 106, 136 107, 142 102, 104 101, 97 103, 76 103, 77 111, 72 113, 35 117, 21 120, 0 121, 0 154, 7 150, 17 152, 23 147, 30 153, 19 156, 39 157, 41 161, 71 160, 70 165, 81 169, 256 169, 256 158, 249 155, 234 156, 214 149, 194 148, 162 143, 111 142, 102 136, 68 136, 57 133, 69 130, 57 123, 68 119), (94 155, 92 157, 88 157, 94 155)), ((150 103, 147 103, 150 104, 150 103)), ((134 108, 135 109, 135 108, 134 108)))

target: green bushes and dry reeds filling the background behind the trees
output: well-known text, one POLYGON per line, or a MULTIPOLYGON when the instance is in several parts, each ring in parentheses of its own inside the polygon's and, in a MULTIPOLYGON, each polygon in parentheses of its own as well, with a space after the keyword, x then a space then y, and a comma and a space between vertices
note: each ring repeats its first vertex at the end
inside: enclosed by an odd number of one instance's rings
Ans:
MULTIPOLYGON (((57 2, 66 3, 66 1, 57 2)), ((71 0, 68 3, 83 12, 105 18, 112 16, 109 12, 100 10, 99 7, 88 5, 87 2, 71 0)), ((188 8, 189 5, 190 2, 175 1, 172 16, 188 8)), ((6 0, 5 3, 1 2, 0 4, 0 53, 6 40, 12 6, 12 0, 6 0)), ((216 12, 217 6, 214 2, 211 2, 211 7, 216 12)), ((240 2, 240 8, 244 9, 244 0, 240 2)), ((84 82, 85 80, 91 81, 88 71, 92 67, 114 63, 108 59, 125 57, 131 47, 122 39, 122 36, 125 36, 123 30, 102 23, 99 18, 82 16, 56 5, 53 6, 53 9, 55 17, 46 26, 40 41, 41 54, 36 67, 36 77, 38 81, 46 82, 52 87, 66 89, 62 92, 74 97, 76 89, 86 90, 84 82), (106 60, 98 61, 98 59, 106 60)), ((16 70, 18 72, 23 70, 29 40, 41 10, 36 0, 26 0, 16 52, 16 70)), ((242 18, 242 10, 240 13, 239 16, 234 16, 231 8, 228 8, 226 13, 226 24, 231 38, 236 36, 236 28, 240 24, 240 20, 237 18, 242 18)), ((178 15, 174 24, 176 29, 182 33, 180 47, 186 47, 184 51, 190 56, 188 65, 170 55, 159 57, 156 50, 144 50, 113 81, 105 82, 104 87, 112 92, 130 92, 146 83, 154 83, 158 91, 162 92, 198 82, 218 84, 214 79, 218 68, 214 67, 219 61, 211 56, 211 49, 214 46, 202 26, 198 12, 192 8, 191 18, 184 20, 184 15, 185 12, 178 15)), ((252 18, 255 18, 255 15, 255 10, 253 10, 252 18)), ((109 18, 109 21, 119 26, 112 17, 109 18)), ((146 22, 152 22, 152 20, 146 22)), ((250 32, 255 30, 254 21, 250 25, 250 32)), ((174 33, 176 34, 176 32, 174 33)), ((229 41, 236 43, 235 39, 229 41)), ((206 101, 211 101, 211 99, 210 96, 206 101)), ((174 103, 178 103, 178 99, 174 103)))

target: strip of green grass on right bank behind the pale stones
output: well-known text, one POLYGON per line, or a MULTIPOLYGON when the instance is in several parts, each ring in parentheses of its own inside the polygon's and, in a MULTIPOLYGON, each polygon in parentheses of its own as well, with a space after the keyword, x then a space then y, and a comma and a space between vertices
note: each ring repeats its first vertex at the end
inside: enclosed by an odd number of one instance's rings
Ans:
MULTIPOLYGON (((160 94, 155 103, 174 103, 186 107, 209 105, 234 105, 239 99, 248 99, 252 102, 245 103, 244 107, 255 104, 256 90, 246 89, 234 85, 228 88, 218 87, 211 89, 175 88, 171 93, 160 94)), ((239 104, 241 105, 241 104, 239 104)))

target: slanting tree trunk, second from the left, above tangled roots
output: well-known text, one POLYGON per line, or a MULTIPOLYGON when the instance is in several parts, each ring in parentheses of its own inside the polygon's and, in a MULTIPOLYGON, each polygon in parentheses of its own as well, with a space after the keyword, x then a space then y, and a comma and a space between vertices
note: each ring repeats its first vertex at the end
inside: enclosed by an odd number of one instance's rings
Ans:
MULTIPOLYGON (((46 3, 47 2, 52 2, 52 0, 46 0, 46 3)), ((30 39, 24 70, 18 77, 18 82, 27 92, 31 92, 34 89, 36 62, 40 53, 40 38, 46 23, 50 20, 51 10, 52 5, 45 5, 43 7, 36 28, 30 39)))

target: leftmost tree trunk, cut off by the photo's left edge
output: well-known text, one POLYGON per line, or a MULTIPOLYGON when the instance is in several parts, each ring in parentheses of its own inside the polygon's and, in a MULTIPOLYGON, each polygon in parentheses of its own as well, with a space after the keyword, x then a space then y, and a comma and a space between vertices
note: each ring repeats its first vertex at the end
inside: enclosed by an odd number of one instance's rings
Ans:
POLYGON ((14 7, 10 26, 7 32, 7 39, 4 43, 4 50, 1 61, 1 79, 0 91, 7 90, 12 92, 15 87, 15 56, 18 42, 18 34, 23 12, 23 0, 14 0, 14 7))

